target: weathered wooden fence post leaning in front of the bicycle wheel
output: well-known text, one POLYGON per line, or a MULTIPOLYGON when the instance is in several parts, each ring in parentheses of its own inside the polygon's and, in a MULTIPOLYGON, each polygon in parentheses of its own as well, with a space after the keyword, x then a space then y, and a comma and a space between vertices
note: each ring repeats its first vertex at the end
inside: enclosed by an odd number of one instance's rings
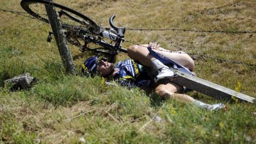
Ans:
POLYGON ((60 57, 62 58, 62 63, 65 66, 66 72, 73 75, 75 74, 75 66, 73 64, 71 52, 69 51, 64 31, 62 30, 59 14, 51 5, 45 5, 45 7, 53 34, 55 36, 57 47, 59 49, 60 57))

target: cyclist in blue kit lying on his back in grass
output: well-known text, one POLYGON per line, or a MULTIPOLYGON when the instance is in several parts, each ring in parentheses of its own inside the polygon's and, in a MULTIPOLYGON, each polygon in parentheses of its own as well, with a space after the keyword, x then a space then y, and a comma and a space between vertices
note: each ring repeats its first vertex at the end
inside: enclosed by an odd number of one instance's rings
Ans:
POLYGON ((98 57, 89 57, 84 62, 82 72, 85 73, 85 75, 91 76, 94 76, 95 73, 99 73, 104 78, 114 79, 121 85, 129 88, 139 87, 145 90, 155 90, 156 94, 163 99, 175 98, 176 100, 194 104, 209 110, 225 108, 224 104, 205 104, 184 94, 187 89, 171 81, 171 79, 174 78, 174 72, 160 60, 156 59, 156 57, 149 52, 148 47, 151 47, 154 52, 179 63, 193 73, 195 68, 194 61, 187 53, 169 52, 159 47, 157 43, 130 46, 127 49, 130 59, 118 62, 116 66, 114 66, 113 63, 104 62, 103 60, 98 61, 98 57), (165 84, 162 84, 162 81, 166 79, 169 80, 168 83, 165 82, 165 84))

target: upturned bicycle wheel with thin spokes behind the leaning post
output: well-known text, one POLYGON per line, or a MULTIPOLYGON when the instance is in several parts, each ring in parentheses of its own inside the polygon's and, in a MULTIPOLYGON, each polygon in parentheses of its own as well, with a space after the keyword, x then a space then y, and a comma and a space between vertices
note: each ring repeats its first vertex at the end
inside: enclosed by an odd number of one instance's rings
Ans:
POLYGON ((74 26, 92 29, 94 31, 98 29, 98 25, 87 16, 71 8, 65 7, 64 5, 60 5, 49 0, 21 1, 21 7, 27 11, 28 14, 33 15, 33 17, 36 17, 41 21, 49 23, 49 18, 44 5, 55 7, 56 11, 59 12, 60 23, 62 23, 62 27, 66 30, 74 26))

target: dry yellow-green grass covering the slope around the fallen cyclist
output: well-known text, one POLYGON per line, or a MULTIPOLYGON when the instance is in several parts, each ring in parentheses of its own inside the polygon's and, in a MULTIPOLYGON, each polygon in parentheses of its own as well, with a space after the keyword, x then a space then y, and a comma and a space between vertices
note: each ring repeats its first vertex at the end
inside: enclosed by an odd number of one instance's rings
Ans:
MULTIPOLYGON (((97 24, 127 28, 177 28, 255 31, 254 1, 55 1, 76 9, 97 24), (129 10, 125 10, 129 9, 129 10)), ((23 11, 19 2, 1 1, 2 9, 23 11)), ((66 75, 55 42, 47 43, 49 25, 0 11, 0 85, 24 72, 39 78, 27 91, 0 88, 0 143, 255 143, 256 107, 225 103, 226 111, 207 111, 175 100, 161 101, 140 89, 110 87, 96 76, 66 75), (160 116, 161 121, 155 121, 160 116), (83 140, 84 139, 84 140, 83 140)), ((256 64, 254 33, 126 31, 124 47, 158 41, 169 50, 256 64)), ((72 55, 80 54, 69 46, 72 55)), ((88 57, 74 61, 77 71, 88 57)), ((119 59, 126 58, 120 54, 119 59)), ((215 59, 196 60, 200 78, 255 97, 255 66, 215 59)))

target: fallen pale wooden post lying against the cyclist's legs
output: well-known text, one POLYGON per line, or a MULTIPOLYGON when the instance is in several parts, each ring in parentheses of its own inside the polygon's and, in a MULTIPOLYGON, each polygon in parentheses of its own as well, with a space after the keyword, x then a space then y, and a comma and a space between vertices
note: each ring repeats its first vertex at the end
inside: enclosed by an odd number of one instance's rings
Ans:
POLYGON ((201 92, 202 94, 209 95, 218 99, 228 100, 232 97, 235 97, 239 100, 248 101, 249 103, 256 102, 254 97, 233 91, 232 89, 222 87, 221 85, 217 85, 213 82, 206 81, 196 76, 188 75, 187 73, 178 71, 176 69, 173 71, 177 75, 177 78, 174 78, 172 81, 194 91, 201 92))

